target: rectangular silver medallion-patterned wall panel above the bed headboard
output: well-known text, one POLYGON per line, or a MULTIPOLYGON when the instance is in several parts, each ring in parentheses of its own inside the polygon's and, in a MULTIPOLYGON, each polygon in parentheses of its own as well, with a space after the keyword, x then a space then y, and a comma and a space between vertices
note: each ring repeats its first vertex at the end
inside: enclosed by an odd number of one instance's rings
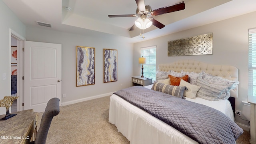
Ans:
POLYGON ((212 33, 168 41, 168 56, 212 54, 212 33))

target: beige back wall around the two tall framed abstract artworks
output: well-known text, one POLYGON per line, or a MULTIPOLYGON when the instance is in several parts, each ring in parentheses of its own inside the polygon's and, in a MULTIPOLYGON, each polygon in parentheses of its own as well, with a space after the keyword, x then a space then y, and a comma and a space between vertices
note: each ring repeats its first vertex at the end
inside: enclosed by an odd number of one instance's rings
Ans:
POLYGON ((26 27, 26 40, 62 44, 62 104, 70 104, 94 96, 102 96, 131 86, 133 45, 121 37, 102 32, 84 35, 26 27), (76 87, 76 46, 95 48, 95 84, 76 87), (118 50, 118 81, 103 83, 103 49, 118 50))

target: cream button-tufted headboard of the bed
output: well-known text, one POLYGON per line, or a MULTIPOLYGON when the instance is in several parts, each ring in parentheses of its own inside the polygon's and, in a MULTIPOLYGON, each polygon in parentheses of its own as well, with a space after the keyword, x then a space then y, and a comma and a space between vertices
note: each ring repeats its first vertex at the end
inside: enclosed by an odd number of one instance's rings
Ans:
MULTIPOLYGON (((196 72, 196 73, 200 73, 204 71, 214 76, 220 76, 228 80, 238 81, 238 68, 234 66, 207 64, 207 63, 196 61, 196 60, 180 60, 180 61, 172 62, 169 64, 158 65, 158 71, 169 71, 169 70, 173 70, 175 72, 181 72, 181 70, 183 70, 184 72, 196 72)), ((233 98, 237 98, 238 88, 236 87, 234 90, 230 90, 230 95, 233 98)))

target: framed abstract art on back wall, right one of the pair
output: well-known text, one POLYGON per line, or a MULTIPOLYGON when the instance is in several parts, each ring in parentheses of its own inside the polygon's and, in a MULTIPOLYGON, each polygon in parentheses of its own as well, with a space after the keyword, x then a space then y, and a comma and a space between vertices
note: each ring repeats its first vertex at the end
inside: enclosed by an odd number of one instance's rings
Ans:
POLYGON ((103 49, 104 80, 103 82, 117 81, 117 50, 103 49))

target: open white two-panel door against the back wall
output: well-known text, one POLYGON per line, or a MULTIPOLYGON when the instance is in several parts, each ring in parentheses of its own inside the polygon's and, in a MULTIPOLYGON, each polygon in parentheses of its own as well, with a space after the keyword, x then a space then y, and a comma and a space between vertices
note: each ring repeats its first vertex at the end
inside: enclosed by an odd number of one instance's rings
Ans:
POLYGON ((24 110, 44 112, 54 97, 61 105, 61 44, 25 41, 24 110))

